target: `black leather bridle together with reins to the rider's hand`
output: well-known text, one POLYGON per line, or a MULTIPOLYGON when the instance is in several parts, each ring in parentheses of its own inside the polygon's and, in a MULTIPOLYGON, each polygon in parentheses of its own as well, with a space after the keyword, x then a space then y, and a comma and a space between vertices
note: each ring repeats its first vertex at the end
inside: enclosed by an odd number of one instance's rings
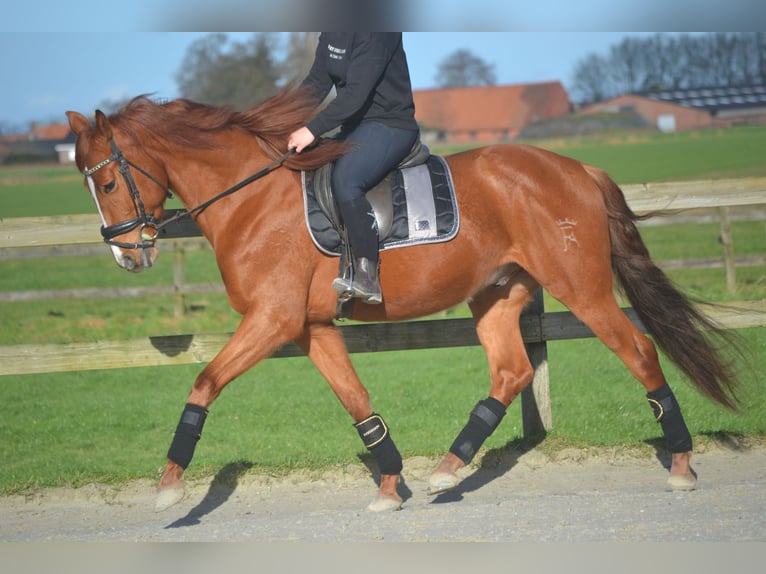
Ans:
MULTIPOLYGON (((215 203, 219 199, 222 199, 226 197, 227 195, 231 195, 232 193, 239 191, 240 189, 252 183, 256 179, 263 177, 264 175, 271 172, 273 169, 281 166, 285 162, 285 160, 287 160, 287 158, 289 158, 293 153, 295 153, 295 150, 293 149, 288 150, 286 153, 284 153, 283 155, 275 159, 273 162, 271 162, 269 165, 267 165, 263 169, 243 179, 239 183, 234 184, 227 190, 208 199, 207 201, 201 203, 200 205, 193 207, 192 209, 181 210, 175 213, 172 217, 168 219, 158 220, 153 215, 146 213, 144 202, 141 199, 141 193, 138 191, 138 186, 136 185, 136 181, 133 179, 133 174, 131 173, 130 168, 132 167, 136 171, 148 177, 158 186, 160 186, 160 188, 165 192, 165 195, 167 198, 172 198, 173 193, 170 191, 170 189, 166 185, 160 182, 160 180, 158 180, 156 177, 154 177, 153 175, 151 175, 150 173, 148 173, 147 171, 145 171, 144 169, 142 169, 141 167, 137 166, 135 163, 127 159, 122 154, 122 151, 120 151, 120 149, 117 147, 117 144, 114 143, 114 140, 110 140, 109 145, 112 148, 112 152, 113 152, 112 155, 106 158, 105 160, 97 163, 92 168, 86 169, 84 171, 84 174, 87 177, 90 177, 94 173, 96 173, 98 170, 100 170, 102 167, 109 165, 113 161, 117 162, 117 169, 122 174, 122 177, 125 180, 125 185, 127 185, 128 187, 130 198, 133 201, 133 207, 136 210, 136 217, 134 217, 133 219, 121 221, 120 223, 115 223, 113 225, 102 225, 101 236, 104 238, 104 242, 107 243, 108 245, 114 245, 116 247, 122 247, 124 249, 149 249, 151 247, 154 247, 154 244, 157 241, 157 238, 160 234, 160 230, 163 227, 165 227, 166 225, 170 223, 178 221, 179 219, 182 219, 184 217, 191 217, 193 214, 201 212, 206 207, 215 203), (136 228, 140 228, 141 233, 139 237, 141 239, 141 243, 126 243, 123 241, 115 241, 114 239, 115 237, 118 237, 125 233, 129 233, 130 231, 133 231, 136 228)), ((95 199, 95 196, 94 196, 94 199, 95 199)))

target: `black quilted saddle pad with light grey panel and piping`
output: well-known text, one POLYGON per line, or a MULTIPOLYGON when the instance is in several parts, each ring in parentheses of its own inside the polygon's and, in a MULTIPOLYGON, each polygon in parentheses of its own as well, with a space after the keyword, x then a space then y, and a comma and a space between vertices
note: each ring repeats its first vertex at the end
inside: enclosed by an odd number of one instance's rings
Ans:
MULTIPOLYGON (((306 223, 317 248, 339 256, 342 244, 337 224, 317 199, 317 188, 330 180, 328 171, 320 172, 302 174, 306 223)), ((379 238, 381 251, 449 241, 457 235, 460 217, 452 175, 444 158, 431 155, 422 165, 394 170, 383 182, 390 187, 393 217, 390 230, 379 238)), ((376 188, 375 193, 379 196, 380 190, 376 188)))

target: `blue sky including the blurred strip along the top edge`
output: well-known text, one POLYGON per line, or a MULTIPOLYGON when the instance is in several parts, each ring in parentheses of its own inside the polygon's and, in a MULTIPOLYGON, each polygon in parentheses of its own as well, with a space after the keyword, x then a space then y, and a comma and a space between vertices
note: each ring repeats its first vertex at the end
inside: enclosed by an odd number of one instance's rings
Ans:
MULTIPOLYGON (((422 30, 404 35, 415 89, 434 87, 438 64, 458 48, 494 64, 500 84, 559 80, 568 88, 579 60, 594 52, 606 55, 625 36, 716 27, 747 31, 766 21, 766 2, 760 0, 643 0, 640 7, 614 0, 383 1, 394 7, 393 19, 385 20, 389 29, 422 30)), ((7 4, 0 18, 0 126, 6 129, 64 121, 67 110, 89 114, 105 100, 143 93, 176 97, 174 76, 187 48, 210 31, 242 40, 252 32, 233 30, 331 29, 338 7, 384 5, 362 0, 7 4), (299 5, 329 8, 301 11, 299 5)))

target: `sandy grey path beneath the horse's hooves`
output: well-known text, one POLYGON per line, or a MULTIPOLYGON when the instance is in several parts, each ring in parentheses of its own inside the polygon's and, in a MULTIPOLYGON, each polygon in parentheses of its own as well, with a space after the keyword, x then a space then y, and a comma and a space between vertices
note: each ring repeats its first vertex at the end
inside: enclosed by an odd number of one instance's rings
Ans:
POLYGON ((90 485, 0 498, 0 541, 766 541, 766 447, 698 451, 698 489, 666 491, 658 457, 533 449, 471 468, 426 494, 435 460, 405 461, 399 512, 363 509, 366 468, 273 479, 223 469, 154 513, 154 483, 90 485))

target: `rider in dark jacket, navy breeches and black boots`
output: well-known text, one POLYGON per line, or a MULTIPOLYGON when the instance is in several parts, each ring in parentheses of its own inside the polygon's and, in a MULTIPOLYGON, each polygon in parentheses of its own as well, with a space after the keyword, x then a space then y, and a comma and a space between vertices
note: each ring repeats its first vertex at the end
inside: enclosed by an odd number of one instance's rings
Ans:
POLYGON ((335 163, 332 187, 351 247, 353 280, 338 278, 333 288, 381 303, 378 230, 365 194, 408 154, 420 134, 402 34, 323 32, 301 86, 318 102, 333 87, 336 96, 290 134, 288 149, 300 153, 336 128, 335 137, 352 143, 335 163))

